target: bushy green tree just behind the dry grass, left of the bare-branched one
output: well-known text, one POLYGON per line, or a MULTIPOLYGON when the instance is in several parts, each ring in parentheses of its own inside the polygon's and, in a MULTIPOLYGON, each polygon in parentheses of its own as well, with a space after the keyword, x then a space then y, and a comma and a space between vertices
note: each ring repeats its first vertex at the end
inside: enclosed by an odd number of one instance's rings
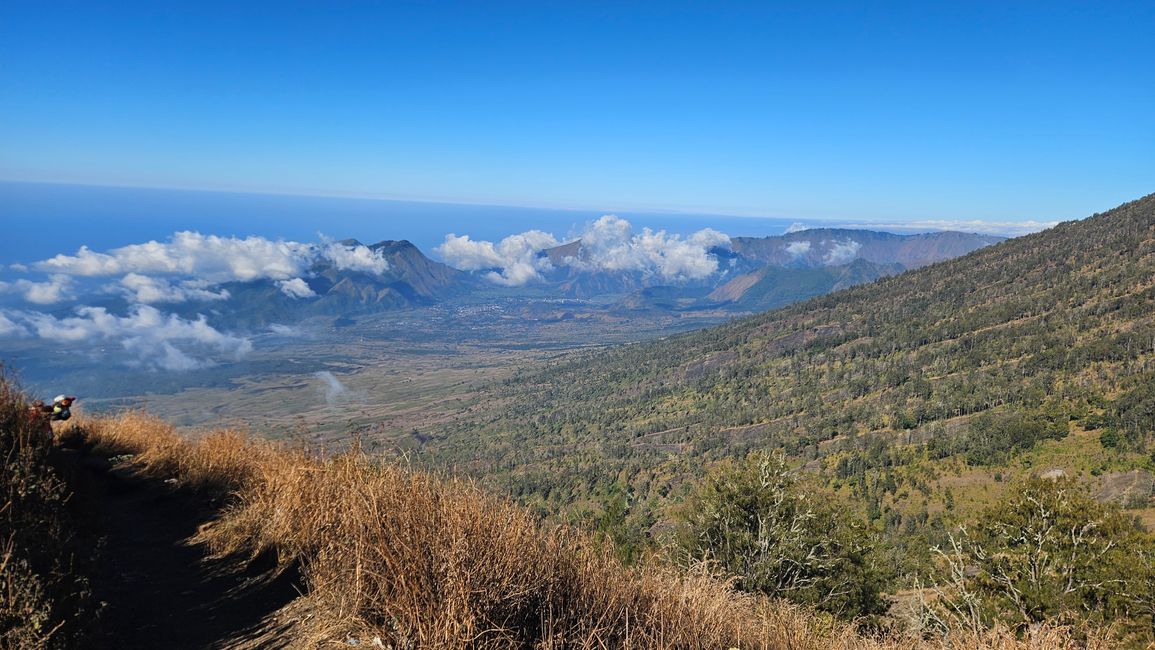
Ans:
POLYGON ((739 589, 852 618, 886 610, 866 526, 800 488, 781 453, 755 451, 706 477, 681 545, 739 589))

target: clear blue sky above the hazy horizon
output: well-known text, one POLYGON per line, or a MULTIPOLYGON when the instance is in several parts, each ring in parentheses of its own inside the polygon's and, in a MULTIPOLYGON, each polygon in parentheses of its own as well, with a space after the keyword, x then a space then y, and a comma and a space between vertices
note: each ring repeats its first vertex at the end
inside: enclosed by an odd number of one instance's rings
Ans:
POLYGON ((1079 218, 1155 192, 1155 2, 5 0, 0 179, 1079 218))

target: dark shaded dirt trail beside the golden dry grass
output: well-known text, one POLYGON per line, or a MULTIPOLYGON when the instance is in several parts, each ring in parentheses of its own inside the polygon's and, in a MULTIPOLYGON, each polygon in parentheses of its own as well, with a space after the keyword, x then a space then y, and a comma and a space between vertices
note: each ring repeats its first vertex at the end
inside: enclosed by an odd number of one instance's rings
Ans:
POLYGON ((60 456, 94 532, 98 611, 84 648, 228 648, 298 596, 295 571, 230 570, 186 543, 216 514, 203 499, 82 450, 60 456))

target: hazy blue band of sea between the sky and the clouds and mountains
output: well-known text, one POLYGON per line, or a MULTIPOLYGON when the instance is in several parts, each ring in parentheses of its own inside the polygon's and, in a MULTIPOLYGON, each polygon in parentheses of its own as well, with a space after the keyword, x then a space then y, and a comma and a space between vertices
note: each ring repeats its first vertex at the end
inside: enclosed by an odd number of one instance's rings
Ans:
MULTIPOLYGON (((166 241, 177 232, 315 241, 319 236, 363 244, 405 239, 434 259, 449 234, 498 241, 530 230, 578 238, 605 215, 638 230, 688 236, 713 229, 730 237, 769 237, 798 227, 848 227, 895 233, 955 230, 1018 237, 1057 222, 854 222, 693 212, 578 210, 346 196, 259 194, 202 189, 0 181, 6 238, 0 264, 29 264, 84 246, 107 251, 166 241)), ((1086 216, 1086 215, 1085 215, 1086 216)))

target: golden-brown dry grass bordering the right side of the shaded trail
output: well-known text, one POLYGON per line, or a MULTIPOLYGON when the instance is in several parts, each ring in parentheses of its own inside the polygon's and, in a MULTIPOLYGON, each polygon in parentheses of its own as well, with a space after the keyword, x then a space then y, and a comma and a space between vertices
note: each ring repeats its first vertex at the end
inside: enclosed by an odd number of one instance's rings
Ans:
POLYGON ((1063 629, 918 641, 859 635, 804 607, 733 591, 705 568, 626 568, 610 548, 469 483, 359 451, 333 458, 214 432, 198 440, 141 414, 84 423, 98 447, 142 471, 230 494, 196 541, 216 555, 275 552, 306 595, 280 641, 313 648, 1103 648, 1063 629))

